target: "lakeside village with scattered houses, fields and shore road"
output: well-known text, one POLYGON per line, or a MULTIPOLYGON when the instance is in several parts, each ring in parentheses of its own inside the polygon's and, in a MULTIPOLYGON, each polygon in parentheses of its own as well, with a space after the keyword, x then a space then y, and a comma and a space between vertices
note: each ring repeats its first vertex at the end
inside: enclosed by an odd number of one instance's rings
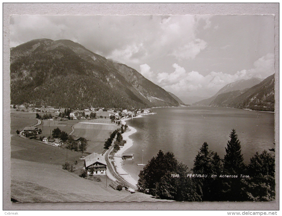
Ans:
MULTIPOLYGON (((112 165, 113 157, 121 157, 124 161, 132 161, 134 154, 114 156, 113 152, 116 152, 113 151, 114 145, 110 146, 109 149, 102 148, 102 145, 104 145, 103 142, 110 131, 114 129, 120 130, 121 126, 122 133, 125 132, 127 125, 124 127, 125 125, 121 123, 121 120, 138 115, 152 114, 152 109, 130 111, 127 109, 105 109, 100 107, 76 110, 56 109, 50 106, 36 108, 11 105, 10 107, 13 113, 26 113, 26 115, 30 113, 38 121, 32 126, 25 126, 22 130, 17 130, 18 136, 30 138, 59 149, 66 149, 66 153, 71 150, 81 152, 84 155, 79 157, 79 160, 76 159, 71 163, 68 162, 67 165, 62 165, 65 166, 63 169, 74 172, 75 169, 70 167, 81 164, 81 161, 83 161, 82 169, 76 169, 76 173, 80 177, 93 180, 93 176, 106 176, 106 179, 110 178, 112 180, 109 186, 115 190, 125 189, 133 193, 137 189, 135 185, 126 182, 117 173, 115 166, 112 165), (98 134, 95 133, 96 130, 99 130, 98 134), (83 137, 83 135, 85 136, 83 137), (100 137, 97 135, 100 135, 100 137), (40 137, 38 138, 38 136, 40 137)), ((116 141, 112 141, 112 143, 114 142, 116 144, 116 141)), ((118 146, 118 149, 120 147, 122 145, 118 146)))

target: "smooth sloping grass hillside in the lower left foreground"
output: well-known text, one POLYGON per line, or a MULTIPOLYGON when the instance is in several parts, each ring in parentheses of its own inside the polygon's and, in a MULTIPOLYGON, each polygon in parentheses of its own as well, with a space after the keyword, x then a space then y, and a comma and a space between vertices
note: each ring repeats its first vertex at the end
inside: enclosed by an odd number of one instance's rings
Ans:
POLYGON ((80 178, 60 166, 11 160, 11 197, 18 202, 142 202, 164 201, 151 195, 116 191, 105 176, 101 182, 80 178))

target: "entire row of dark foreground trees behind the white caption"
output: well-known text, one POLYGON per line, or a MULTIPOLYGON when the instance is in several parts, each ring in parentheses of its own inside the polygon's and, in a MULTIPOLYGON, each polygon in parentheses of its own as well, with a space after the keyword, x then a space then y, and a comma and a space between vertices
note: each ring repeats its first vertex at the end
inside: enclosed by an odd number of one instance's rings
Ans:
POLYGON ((220 159, 204 142, 189 171, 173 153, 159 150, 140 171, 138 189, 159 199, 178 201, 274 201, 274 156, 257 152, 245 165, 234 129, 225 151, 220 159))

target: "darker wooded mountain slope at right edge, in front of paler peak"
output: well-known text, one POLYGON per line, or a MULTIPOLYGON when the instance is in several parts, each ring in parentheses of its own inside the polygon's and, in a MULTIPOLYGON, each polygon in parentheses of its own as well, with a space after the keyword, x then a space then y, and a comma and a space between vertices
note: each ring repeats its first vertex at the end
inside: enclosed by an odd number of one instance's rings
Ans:
POLYGON ((273 74, 259 84, 243 91, 238 90, 219 94, 209 105, 273 112, 274 104, 273 74))

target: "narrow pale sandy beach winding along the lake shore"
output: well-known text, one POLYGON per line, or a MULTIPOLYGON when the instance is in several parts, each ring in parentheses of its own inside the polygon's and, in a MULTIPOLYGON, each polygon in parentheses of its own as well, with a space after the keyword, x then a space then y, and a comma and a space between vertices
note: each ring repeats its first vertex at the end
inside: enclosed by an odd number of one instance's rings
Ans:
MULTIPOLYGON (((138 115, 137 117, 134 118, 138 118, 138 117, 142 117, 142 115, 138 115)), ((128 119, 122 119, 121 122, 122 124, 126 124, 126 120, 128 119)), ((129 138, 129 136, 133 133, 136 132, 136 129, 128 126, 127 130, 125 131, 125 133, 123 133, 123 139, 126 140, 126 144, 120 148, 119 151, 117 151, 115 153, 115 156, 122 156, 123 152, 125 152, 125 150, 129 149, 132 145, 133 145, 133 140, 129 138)), ((130 184, 136 185, 137 184, 137 180, 134 179, 129 173, 127 173, 125 170, 123 170, 122 164, 123 164, 123 159, 121 157, 114 157, 114 163, 116 166, 116 170, 117 173, 121 175, 121 177, 126 180, 127 182, 129 182, 130 184)))

